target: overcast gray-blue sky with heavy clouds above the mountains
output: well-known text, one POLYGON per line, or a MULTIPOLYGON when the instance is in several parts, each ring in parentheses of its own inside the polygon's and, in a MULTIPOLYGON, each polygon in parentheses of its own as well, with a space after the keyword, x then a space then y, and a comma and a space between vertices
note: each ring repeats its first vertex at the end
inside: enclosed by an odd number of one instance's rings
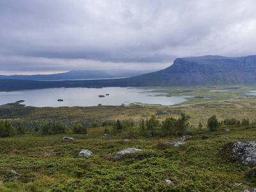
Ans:
POLYGON ((1 0, 0 74, 256 54, 255 0, 1 0))

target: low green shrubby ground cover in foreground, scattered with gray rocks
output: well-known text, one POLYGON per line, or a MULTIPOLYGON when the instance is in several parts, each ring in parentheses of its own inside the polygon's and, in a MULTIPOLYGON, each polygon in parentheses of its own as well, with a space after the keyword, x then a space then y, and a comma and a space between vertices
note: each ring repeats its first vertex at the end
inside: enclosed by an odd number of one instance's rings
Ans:
POLYGON ((26 134, 1 138, 0 191, 241 191, 255 188, 253 169, 220 157, 225 141, 251 141, 254 128, 229 127, 230 132, 191 131, 193 138, 179 148, 161 145, 168 138, 141 138, 125 143, 125 134, 100 138, 103 127, 89 135, 26 134), (244 134, 237 132, 244 131, 244 134), (159 144, 160 143, 160 144, 159 144), (160 146, 160 147, 159 147, 160 146), (125 148, 141 148, 113 161, 125 148), (93 152, 84 159, 81 149, 93 152), (19 173, 13 177, 9 170, 19 173), (249 175, 249 177, 248 177, 249 175), (252 174, 251 174, 252 175, 252 174), (173 186, 164 182, 172 180, 173 186), (236 186, 236 184, 241 186, 236 186))

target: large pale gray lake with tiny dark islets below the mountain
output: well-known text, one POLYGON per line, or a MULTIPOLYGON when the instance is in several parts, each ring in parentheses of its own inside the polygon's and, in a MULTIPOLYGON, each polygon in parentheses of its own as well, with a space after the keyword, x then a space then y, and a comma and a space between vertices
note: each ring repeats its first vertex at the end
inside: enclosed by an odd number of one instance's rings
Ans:
POLYGON ((166 93, 154 93, 152 92, 154 90, 120 87, 20 90, 17 92, 0 92, 0 105, 24 100, 21 104, 35 107, 98 106, 98 104, 120 106, 131 103, 172 106, 185 102, 187 100, 185 98, 191 97, 186 95, 173 97, 156 96, 166 93), (99 97, 99 95, 104 95, 105 97, 99 97), (58 101, 58 99, 63 101, 58 101))

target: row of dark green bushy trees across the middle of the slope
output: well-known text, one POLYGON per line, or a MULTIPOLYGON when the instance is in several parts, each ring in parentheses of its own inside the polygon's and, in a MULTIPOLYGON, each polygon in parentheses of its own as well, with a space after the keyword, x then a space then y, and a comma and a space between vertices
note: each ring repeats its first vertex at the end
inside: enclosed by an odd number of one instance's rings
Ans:
MULTIPOLYGON (((156 115, 152 115, 149 119, 142 119, 136 126, 135 122, 132 120, 116 120, 116 121, 104 121, 101 124, 94 122, 90 127, 105 127, 104 133, 107 134, 117 134, 122 131, 126 131, 129 137, 143 136, 182 136, 188 132, 189 115, 185 113, 180 113, 180 117, 175 119, 172 116, 166 118, 162 122, 157 120, 156 115), (111 127, 111 129, 109 129, 111 127)), ((216 115, 212 115, 207 120, 207 128, 209 131, 217 131, 221 125, 246 125, 256 127, 256 122, 251 122, 250 120, 243 119, 242 121, 236 118, 226 118, 221 122, 218 121, 216 115)), ((203 125, 201 122, 198 124, 198 129, 202 129, 203 125)), ((87 134, 87 127, 82 124, 74 124, 72 129, 68 129, 66 125, 61 125, 58 122, 52 122, 49 124, 44 124, 41 129, 36 125, 34 131, 41 131, 42 134, 62 134, 67 131, 72 131, 75 134, 87 134)), ((1 120, 0 122, 0 137, 12 136, 13 134, 25 134, 27 132, 25 125, 17 124, 15 127, 8 120, 1 120)))

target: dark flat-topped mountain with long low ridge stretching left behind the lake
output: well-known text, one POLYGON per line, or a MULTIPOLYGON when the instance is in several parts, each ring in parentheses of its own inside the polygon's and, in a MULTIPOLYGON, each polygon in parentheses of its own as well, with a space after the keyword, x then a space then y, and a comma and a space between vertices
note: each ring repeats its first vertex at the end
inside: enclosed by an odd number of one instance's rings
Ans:
MULTIPOLYGON (((78 78, 77 78, 78 79, 78 78)), ((228 58, 200 56, 177 58, 173 65, 157 72, 124 79, 89 81, 0 80, 0 90, 60 87, 182 86, 196 84, 256 83, 256 56, 228 58)))

